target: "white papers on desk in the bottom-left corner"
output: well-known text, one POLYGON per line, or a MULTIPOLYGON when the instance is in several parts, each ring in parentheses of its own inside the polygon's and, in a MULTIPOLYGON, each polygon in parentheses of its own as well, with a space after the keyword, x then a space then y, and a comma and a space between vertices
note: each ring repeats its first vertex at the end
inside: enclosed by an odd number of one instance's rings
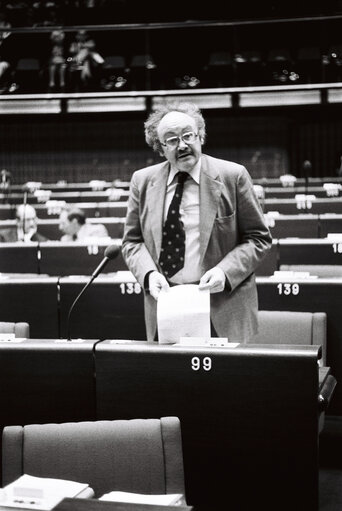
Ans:
POLYGON ((94 496, 86 483, 24 474, 2 490, 1 508, 50 510, 66 497, 94 496))

